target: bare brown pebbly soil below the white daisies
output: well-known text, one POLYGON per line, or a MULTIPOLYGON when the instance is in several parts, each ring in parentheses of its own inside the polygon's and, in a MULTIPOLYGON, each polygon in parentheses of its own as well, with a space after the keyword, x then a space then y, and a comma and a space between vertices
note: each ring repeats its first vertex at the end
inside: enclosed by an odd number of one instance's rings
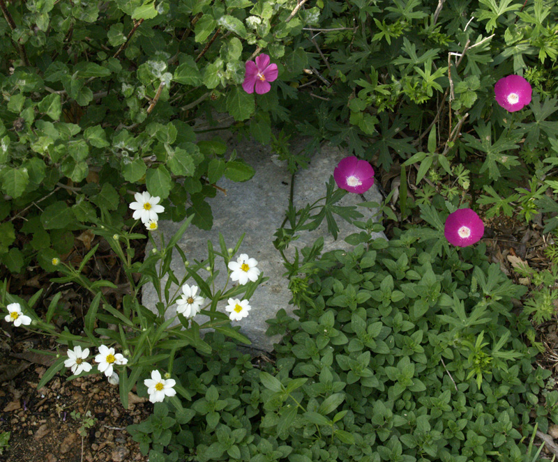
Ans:
POLYGON ((26 353, 24 348, 45 343, 45 339, 17 341, 11 337, 6 341, 3 336, 0 338, 0 433, 11 432, 10 449, 4 451, 0 461, 148 460, 140 453, 139 444, 130 438, 126 426, 140 423, 149 416, 153 410, 149 401, 133 395, 133 401, 137 402, 124 409, 118 387, 110 385, 100 374, 71 382, 56 375, 45 387, 37 389, 47 369, 46 360, 50 358, 26 353), (6 378, 8 380, 3 380, 6 378), (93 426, 84 430, 84 437, 79 434, 82 423, 70 415, 73 411, 81 415, 89 411, 94 418, 93 426))

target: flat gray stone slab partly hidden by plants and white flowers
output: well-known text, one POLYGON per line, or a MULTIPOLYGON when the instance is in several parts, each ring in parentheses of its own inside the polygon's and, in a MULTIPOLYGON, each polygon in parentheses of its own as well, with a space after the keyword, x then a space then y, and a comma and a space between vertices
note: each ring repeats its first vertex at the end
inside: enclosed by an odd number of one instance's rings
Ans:
MULTIPOLYGON (((301 140, 296 145, 303 146, 302 143, 301 140)), ((269 279, 260 285, 250 298, 251 310, 248 317, 238 322, 234 321, 232 325, 241 325, 241 332, 252 341, 252 348, 272 351, 273 344, 280 341, 280 336, 266 337, 265 332, 268 328, 266 320, 274 318, 281 308, 289 314, 292 314, 295 309, 293 305, 289 305, 292 293, 288 290, 287 278, 282 276, 286 271, 285 267, 282 264, 279 252, 273 247, 273 240, 275 239, 273 233, 282 224, 289 202, 291 174, 287 166, 279 162, 276 156, 272 155, 271 149, 266 146, 250 141, 242 141, 241 143, 229 141, 228 144, 230 151, 236 149, 238 157, 243 158, 255 168, 255 176, 244 183, 234 183, 227 178, 221 178, 218 186, 226 190, 226 195, 218 190, 217 196, 209 199, 213 210, 213 228, 211 231, 203 231, 195 226, 190 226, 179 241, 179 246, 186 254, 188 261, 203 261, 208 256, 208 240, 213 242, 215 249, 219 249, 218 236, 219 233, 222 233, 227 247, 234 247, 241 235, 246 233, 236 256, 243 253, 255 258, 258 261, 257 268, 262 270, 264 276, 269 277, 269 279)), ((297 209, 325 196, 326 183, 333 175, 333 169, 335 169, 339 160, 346 156, 347 153, 333 146, 324 146, 321 148, 321 152, 313 155, 308 169, 300 170, 294 180, 294 203, 297 209)), ((340 205, 356 205, 356 203, 363 201, 363 197, 365 201, 382 202, 382 196, 374 185, 365 194, 347 194, 340 201, 340 205)), ((361 219, 365 221, 375 215, 377 210, 359 207, 359 212, 365 215, 361 219)), ((352 246, 347 244, 344 238, 361 230, 340 218, 338 218, 337 223, 340 228, 337 240, 333 240, 333 237, 328 233, 324 220, 318 229, 303 231, 301 237, 289 245, 286 252, 287 256, 294 254, 294 247, 301 249, 312 245, 319 236, 324 237, 323 252, 333 249, 351 249, 352 246)), ((164 233, 165 240, 173 236, 180 226, 181 223, 163 220, 159 222, 159 229, 164 233)), ((376 237, 385 238, 384 233, 377 234, 376 237)), ((150 251, 151 246, 149 245, 146 254, 149 255, 150 251)), ((174 252, 176 253, 176 250, 174 252)), ((185 270, 178 254, 173 256, 171 268, 176 277, 181 280, 185 270)), ((220 274, 216 279, 215 287, 221 289, 227 275, 227 268, 225 268, 222 259, 216 260, 217 269, 220 270, 220 274)), ((209 273, 201 270, 199 275, 206 278, 209 273)), ((163 286, 165 282, 163 281, 163 286)), ((195 284, 192 279, 189 279, 187 283, 195 284)), ((228 288, 230 288, 230 282, 228 288)), ((176 286, 173 284, 170 293, 172 294, 174 291, 176 291, 176 286)), ((157 294, 153 286, 145 285, 142 295, 143 304, 156 312, 155 304, 157 301, 157 294)), ((219 302, 218 310, 226 312, 226 305, 226 300, 222 300, 219 302)), ((169 307, 165 313, 166 318, 174 316, 176 316, 176 305, 169 307)), ((209 318, 198 314, 195 320, 201 325, 209 318)))

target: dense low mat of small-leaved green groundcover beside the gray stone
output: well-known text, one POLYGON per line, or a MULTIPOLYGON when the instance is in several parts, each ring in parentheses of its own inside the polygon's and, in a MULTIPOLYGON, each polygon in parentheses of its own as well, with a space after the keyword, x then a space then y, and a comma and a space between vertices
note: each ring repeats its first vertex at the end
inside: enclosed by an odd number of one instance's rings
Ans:
POLYGON ((191 399, 157 403, 128 427, 142 453, 200 462, 537 460, 524 443, 535 431, 531 407, 547 431, 558 393, 539 401, 550 371, 531 366, 536 348, 521 336, 534 330, 511 302, 525 288, 485 259, 483 245, 435 258, 416 237, 428 231, 395 230, 389 242, 321 258, 303 249, 296 318, 280 309, 268 321, 268 333, 283 336, 273 362, 250 360, 219 333, 205 337, 211 355, 184 349, 173 371, 191 399))

